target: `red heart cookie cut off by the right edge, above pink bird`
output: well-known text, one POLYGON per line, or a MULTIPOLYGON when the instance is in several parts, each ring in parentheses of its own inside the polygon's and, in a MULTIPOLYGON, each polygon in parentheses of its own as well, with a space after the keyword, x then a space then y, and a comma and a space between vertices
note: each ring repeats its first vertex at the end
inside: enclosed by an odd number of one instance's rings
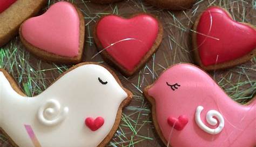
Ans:
POLYGON ((256 27, 234 21, 223 8, 205 10, 193 29, 196 60, 205 70, 230 68, 256 55, 256 27))

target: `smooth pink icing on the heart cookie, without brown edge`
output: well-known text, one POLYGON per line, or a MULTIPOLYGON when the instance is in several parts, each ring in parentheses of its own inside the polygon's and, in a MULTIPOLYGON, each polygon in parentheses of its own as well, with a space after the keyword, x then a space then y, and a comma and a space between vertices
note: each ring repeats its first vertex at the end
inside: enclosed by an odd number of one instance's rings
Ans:
POLYGON ((26 20, 22 25, 22 36, 46 52, 75 57, 79 52, 79 24, 75 6, 58 2, 41 16, 26 20))

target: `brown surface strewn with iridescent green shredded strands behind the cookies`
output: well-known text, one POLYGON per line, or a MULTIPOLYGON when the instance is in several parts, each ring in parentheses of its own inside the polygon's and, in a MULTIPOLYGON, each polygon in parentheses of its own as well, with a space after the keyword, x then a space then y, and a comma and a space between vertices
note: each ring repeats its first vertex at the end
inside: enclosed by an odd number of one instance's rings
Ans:
MULTIPOLYGON (((52 3, 49 0, 43 13, 52 3)), ((116 71, 123 85, 130 89, 134 98, 125 108, 120 127, 109 146, 164 146, 154 131, 150 105, 144 99, 142 90, 152 84, 161 71, 179 62, 194 63, 191 48, 192 25, 197 16, 208 6, 218 5, 227 9, 237 21, 256 25, 255 0, 201 0, 192 9, 168 11, 154 8, 143 0, 121 1, 114 4, 99 5, 85 0, 69 1, 78 6, 85 19, 85 52, 83 61, 104 63, 93 41, 92 27, 106 14, 118 14, 123 17, 133 13, 147 12, 156 15, 164 26, 164 39, 159 50, 145 68, 136 76, 125 78, 116 71)), ((232 53, 231 53, 232 54, 232 53)), ((28 96, 44 91, 62 72, 71 65, 60 65, 38 60, 26 52, 18 36, 0 49, 0 68, 7 70, 20 88, 28 96)), ((241 104, 249 101, 256 92, 256 57, 237 67, 209 72, 213 79, 241 104)), ((11 108, 10 108, 11 109, 11 108)), ((57 137, 57 136, 56 136, 57 137)), ((0 134, 0 146, 11 146, 6 136, 0 134)))

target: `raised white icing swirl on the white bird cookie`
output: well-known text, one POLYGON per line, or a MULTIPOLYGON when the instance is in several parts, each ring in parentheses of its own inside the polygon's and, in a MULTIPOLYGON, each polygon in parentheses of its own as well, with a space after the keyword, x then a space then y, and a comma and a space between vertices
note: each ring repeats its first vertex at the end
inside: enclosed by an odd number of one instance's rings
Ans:
POLYGON ((62 122, 69 113, 69 108, 61 109, 59 102, 50 99, 45 102, 38 110, 38 119, 45 126, 53 126, 62 122))

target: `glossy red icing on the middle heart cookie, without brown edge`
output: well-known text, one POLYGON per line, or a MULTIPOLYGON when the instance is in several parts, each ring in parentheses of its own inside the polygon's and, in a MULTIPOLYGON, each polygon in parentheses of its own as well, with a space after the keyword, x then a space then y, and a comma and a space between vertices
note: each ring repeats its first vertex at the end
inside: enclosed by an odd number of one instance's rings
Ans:
POLYGON ((106 16, 96 29, 97 38, 107 53, 132 71, 152 48, 158 35, 158 21, 146 14, 130 19, 106 16))

